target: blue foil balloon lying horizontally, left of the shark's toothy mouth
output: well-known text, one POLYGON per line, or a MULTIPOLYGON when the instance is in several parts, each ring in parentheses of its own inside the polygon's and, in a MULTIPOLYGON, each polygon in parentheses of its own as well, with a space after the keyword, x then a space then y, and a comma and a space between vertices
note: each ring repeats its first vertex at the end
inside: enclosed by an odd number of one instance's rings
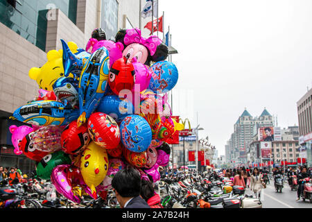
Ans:
POLYGON ((65 109, 61 102, 33 101, 15 110, 12 119, 36 126, 66 126, 78 117, 78 111, 65 109))

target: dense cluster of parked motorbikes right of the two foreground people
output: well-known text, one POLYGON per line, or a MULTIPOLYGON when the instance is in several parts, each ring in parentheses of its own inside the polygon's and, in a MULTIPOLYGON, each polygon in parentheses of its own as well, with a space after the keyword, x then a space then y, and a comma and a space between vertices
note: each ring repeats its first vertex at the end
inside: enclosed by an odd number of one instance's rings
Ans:
POLYGON ((166 176, 159 182, 161 204, 166 208, 262 208, 261 200, 245 194, 220 173, 183 173, 166 176))

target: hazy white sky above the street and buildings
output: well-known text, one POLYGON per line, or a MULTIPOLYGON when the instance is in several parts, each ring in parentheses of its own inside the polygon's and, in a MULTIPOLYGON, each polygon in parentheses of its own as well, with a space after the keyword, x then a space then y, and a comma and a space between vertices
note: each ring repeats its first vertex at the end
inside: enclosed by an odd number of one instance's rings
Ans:
POLYGON ((200 138, 219 155, 245 107, 298 124, 296 102, 312 86, 311 0, 159 0, 162 11, 179 51, 173 112, 196 127, 198 111, 200 138))

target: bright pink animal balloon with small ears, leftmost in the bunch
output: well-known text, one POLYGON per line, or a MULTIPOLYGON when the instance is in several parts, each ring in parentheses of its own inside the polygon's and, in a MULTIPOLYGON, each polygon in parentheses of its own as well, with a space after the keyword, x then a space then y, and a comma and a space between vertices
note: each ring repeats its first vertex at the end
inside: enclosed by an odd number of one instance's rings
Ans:
POLYGON ((12 144, 14 146, 14 153, 16 155, 21 155, 21 153, 23 153, 20 149, 19 149, 19 143, 21 142, 21 140, 26 137, 26 135, 28 135, 28 133, 33 132, 33 128, 31 128, 30 126, 15 126, 12 125, 9 127, 10 133, 12 133, 12 144))

